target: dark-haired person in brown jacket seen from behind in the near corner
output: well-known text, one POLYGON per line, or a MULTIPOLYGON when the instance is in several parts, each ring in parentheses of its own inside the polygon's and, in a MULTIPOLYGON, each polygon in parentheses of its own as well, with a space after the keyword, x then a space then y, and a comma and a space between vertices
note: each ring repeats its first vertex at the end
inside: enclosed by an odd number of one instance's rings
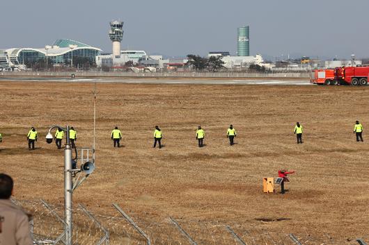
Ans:
POLYGON ((0 174, 0 244, 33 245, 29 227, 31 215, 10 201, 13 186, 10 176, 0 174))

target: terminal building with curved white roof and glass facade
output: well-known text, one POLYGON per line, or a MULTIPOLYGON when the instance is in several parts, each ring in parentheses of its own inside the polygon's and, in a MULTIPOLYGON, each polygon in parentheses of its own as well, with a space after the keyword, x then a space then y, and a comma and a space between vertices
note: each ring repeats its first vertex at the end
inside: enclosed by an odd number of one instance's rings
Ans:
POLYGON ((13 48, 0 50, 0 68, 22 69, 40 60, 49 60, 53 65, 70 65, 72 60, 84 58, 95 64, 102 50, 88 44, 69 39, 56 40, 44 48, 13 48))

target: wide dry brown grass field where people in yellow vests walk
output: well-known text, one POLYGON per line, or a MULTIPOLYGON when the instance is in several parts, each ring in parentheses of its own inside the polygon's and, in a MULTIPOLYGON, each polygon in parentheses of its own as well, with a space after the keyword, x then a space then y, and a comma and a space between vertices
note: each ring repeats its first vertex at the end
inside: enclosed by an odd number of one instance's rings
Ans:
MULTIPOLYGON (((0 89, 0 172, 15 178, 18 200, 60 205, 63 151, 44 138, 49 126, 69 124, 77 145, 91 146, 93 83, 4 81, 0 89), (27 149, 31 126, 39 133, 35 151, 27 149)), ((369 145, 356 142, 353 126, 359 119, 369 127, 369 87, 97 83, 97 90, 96 170, 74 192, 74 203, 111 216, 111 203, 119 203, 138 223, 174 217, 199 244, 215 244, 195 227, 201 223, 227 224, 244 235, 331 237, 331 244, 368 235, 369 145), (292 133, 296 121, 304 144, 292 133), (238 133, 234 146, 226 138, 229 124, 238 133), (162 149, 152 148, 155 125, 163 131, 162 149), (201 149, 198 125, 206 133, 201 149), (120 149, 112 147, 114 126, 123 132, 120 149), (289 191, 263 194, 262 178, 281 168, 297 171, 289 191)), ((151 227, 150 234, 178 233, 172 229, 151 227)))

